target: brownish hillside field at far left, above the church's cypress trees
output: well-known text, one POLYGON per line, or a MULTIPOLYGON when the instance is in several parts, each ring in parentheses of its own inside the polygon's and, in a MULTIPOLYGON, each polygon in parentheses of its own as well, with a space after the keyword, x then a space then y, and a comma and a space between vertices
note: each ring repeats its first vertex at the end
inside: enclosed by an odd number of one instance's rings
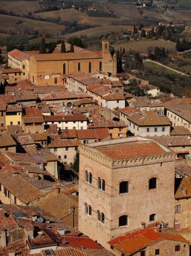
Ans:
POLYGON ((26 30, 31 32, 36 30, 40 34, 48 33, 50 35, 57 35, 62 34, 65 30, 65 26, 63 25, 2 14, 0 14, 0 26, 1 28, 4 28, 7 33, 14 31, 18 34, 24 34, 26 30))

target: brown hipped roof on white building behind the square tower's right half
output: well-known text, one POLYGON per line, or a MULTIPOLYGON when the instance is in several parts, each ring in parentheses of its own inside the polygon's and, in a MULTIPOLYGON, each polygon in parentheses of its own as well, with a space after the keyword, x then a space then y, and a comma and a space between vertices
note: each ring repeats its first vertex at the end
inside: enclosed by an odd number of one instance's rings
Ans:
POLYGON ((126 118, 132 123, 135 123, 136 125, 139 125, 139 126, 162 126, 162 125, 170 126, 171 125, 167 117, 159 116, 154 111, 134 113, 133 115, 130 115, 126 118))

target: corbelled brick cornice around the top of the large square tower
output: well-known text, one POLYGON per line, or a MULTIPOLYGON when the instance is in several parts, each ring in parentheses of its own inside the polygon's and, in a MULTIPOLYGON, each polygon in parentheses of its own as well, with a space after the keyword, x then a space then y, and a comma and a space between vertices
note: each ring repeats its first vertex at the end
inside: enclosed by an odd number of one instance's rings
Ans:
POLYGON ((175 161, 175 158, 176 158, 176 153, 165 152, 163 154, 159 154, 155 156, 143 156, 140 158, 114 160, 112 158, 108 158, 98 150, 95 150, 88 146, 79 147, 79 153, 111 169, 143 166, 143 165, 157 164, 157 163, 163 163, 163 162, 173 162, 175 161))

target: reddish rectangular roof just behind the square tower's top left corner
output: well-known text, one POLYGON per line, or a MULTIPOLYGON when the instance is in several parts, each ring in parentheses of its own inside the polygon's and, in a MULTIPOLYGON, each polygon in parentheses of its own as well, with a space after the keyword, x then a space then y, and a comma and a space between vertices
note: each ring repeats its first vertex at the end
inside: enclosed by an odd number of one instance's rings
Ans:
POLYGON ((78 130, 77 137, 79 139, 106 139, 110 137, 110 133, 108 128, 78 130))

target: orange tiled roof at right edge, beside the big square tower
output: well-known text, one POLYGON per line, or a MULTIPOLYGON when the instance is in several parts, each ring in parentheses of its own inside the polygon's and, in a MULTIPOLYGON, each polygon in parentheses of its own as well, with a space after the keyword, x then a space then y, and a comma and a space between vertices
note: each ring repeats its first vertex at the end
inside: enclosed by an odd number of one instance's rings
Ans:
POLYGON ((175 193, 176 199, 191 197, 191 178, 184 177, 175 193))

